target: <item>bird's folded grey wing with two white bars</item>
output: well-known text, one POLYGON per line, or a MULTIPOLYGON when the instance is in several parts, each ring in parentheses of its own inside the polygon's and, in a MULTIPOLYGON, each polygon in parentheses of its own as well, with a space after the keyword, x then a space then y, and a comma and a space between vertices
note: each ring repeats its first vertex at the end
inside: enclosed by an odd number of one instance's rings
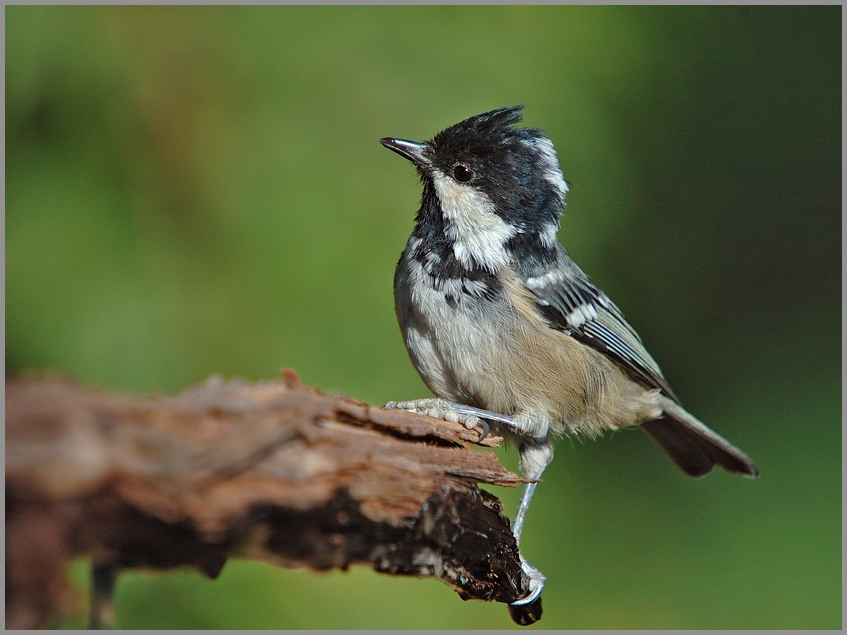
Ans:
POLYGON ((524 277, 550 325, 617 362, 633 379, 678 401, 621 310, 565 254, 559 266, 524 277))

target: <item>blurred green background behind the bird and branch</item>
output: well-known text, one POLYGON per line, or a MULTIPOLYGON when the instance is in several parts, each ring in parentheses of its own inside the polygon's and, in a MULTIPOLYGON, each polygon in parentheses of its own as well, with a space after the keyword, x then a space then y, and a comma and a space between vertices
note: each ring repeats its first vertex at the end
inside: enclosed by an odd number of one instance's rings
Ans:
MULTIPOLYGON (((841 627, 841 7, 5 11, 7 375, 427 396, 391 293, 420 188, 377 140, 523 103, 571 255, 762 470, 562 440, 524 533, 538 627, 841 627)), ((513 626, 362 568, 131 572, 116 602, 127 628, 513 626)))

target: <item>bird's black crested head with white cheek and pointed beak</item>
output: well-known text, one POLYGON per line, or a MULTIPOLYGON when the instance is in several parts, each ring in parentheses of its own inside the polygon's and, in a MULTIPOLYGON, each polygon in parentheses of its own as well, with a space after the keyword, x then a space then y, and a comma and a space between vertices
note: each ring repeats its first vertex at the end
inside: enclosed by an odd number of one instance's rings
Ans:
POLYGON ((465 119, 426 142, 380 142, 409 159, 424 184, 418 225, 441 230, 466 267, 494 269, 520 245, 552 249, 567 184, 552 142, 518 128, 523 106, 465 119))

